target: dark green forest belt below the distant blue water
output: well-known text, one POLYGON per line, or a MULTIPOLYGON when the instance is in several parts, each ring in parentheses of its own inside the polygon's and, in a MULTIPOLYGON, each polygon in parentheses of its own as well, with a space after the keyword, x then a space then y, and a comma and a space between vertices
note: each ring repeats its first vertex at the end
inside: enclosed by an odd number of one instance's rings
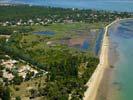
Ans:
POLYGON ((20 19, 51 19, 53 21, 58 19, 68 19, 74 21, 98 22, 98 21, 112 21, 117 17, 131 17, 127 12, 108 12, 97 10, 78 10, 78 9, 63 9, 50 8, 39 6, 0 6, 0 21, 17 21, 20 19))

